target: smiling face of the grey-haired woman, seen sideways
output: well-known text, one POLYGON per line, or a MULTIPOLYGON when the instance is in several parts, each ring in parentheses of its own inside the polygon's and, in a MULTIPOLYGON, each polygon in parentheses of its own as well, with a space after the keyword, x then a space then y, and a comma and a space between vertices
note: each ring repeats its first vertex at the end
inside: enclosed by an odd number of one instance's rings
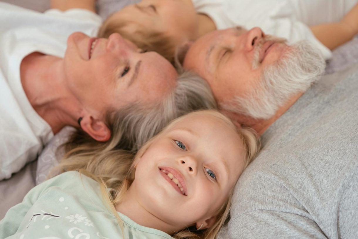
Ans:
POLYGON ((64 62, 69 89, 98 117, 107 109, 162 99, 174 88, 177 76, 164 57, 140 52, 117 33, 108 39, 71 34, 64 62))

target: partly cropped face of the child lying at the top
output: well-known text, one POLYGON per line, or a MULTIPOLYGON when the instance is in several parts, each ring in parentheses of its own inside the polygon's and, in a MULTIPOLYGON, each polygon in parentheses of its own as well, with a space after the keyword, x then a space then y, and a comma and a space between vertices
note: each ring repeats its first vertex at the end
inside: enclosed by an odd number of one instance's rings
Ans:
MULTIPOLYGON (((191 0, 142 0, 139 4, 129 5, 110 17, 111 21, 125 19, 140 24, 150 31, 165 32, 174 39, 193 38, 198 23, 191 0)), ((132 24, 128 24, 131 28, 132 24)), ((135 32, 134 29, 131 31, 135 32)), ((186 39, 189 40, 189 39, 186 39)))

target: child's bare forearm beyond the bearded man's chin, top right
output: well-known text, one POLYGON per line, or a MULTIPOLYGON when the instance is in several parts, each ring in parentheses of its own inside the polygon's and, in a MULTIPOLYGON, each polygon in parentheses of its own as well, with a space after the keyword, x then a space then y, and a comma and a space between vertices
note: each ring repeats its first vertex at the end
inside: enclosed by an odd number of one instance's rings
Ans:
POLYGON ((339 22, 315 25, 310 29, 320 42, 333 50, 358 33, 358 4, 339 22))

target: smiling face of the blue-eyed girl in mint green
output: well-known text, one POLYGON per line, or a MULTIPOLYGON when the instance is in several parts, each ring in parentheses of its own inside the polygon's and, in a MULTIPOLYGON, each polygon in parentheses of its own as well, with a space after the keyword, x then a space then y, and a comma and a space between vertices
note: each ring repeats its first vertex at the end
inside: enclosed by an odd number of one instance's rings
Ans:
POLYGON ((201 223, 205 229, 242 173, 244 157, 243 142, 227 122, 189 115, 145 151, 131 189, 142 207, 176 230, 201 223))

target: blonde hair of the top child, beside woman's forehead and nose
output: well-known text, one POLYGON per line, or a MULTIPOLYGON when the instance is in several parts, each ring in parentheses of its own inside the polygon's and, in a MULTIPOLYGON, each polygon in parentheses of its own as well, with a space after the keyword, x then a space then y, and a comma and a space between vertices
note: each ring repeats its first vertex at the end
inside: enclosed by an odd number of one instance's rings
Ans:
POLYGON ((143 51, 156 51, 170 62, 174 60, 175 41, 172 36, 164 31, 149 29, 144 24, 126 18, 112 20, 111 17, 108 17, 99 29, 98 37, 108 38, 115 32, 136 44, 143 51), (128 29, 136 30, 128 31, 128 29))

